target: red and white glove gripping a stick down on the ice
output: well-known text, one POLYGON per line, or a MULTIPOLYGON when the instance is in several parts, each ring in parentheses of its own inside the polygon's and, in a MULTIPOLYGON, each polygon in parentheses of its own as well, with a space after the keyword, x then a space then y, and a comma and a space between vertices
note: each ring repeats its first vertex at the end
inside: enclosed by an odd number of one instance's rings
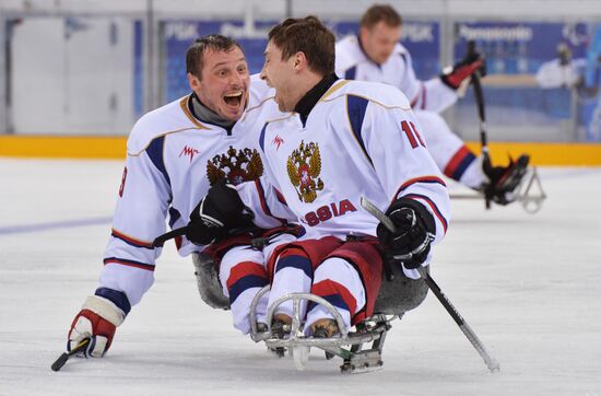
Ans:
POLYGON ((83 356, 102 358, 110 348, 115 330, 125 317, 126 314, 110 300, 98 295, 89 296, 71 324, 67 350, 71 351, 89 338, 90 343, 83 350, 83 356))

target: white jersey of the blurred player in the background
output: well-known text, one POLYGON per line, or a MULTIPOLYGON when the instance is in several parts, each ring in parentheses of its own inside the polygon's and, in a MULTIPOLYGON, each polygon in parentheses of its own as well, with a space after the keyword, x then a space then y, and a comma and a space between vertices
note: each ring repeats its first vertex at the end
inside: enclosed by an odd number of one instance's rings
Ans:
POLYGON ((384 82, 401 90, 414 109, 439 113, 457 102, 457 93, 439 78, 420 81, 415 77, 411 55, 401 44, 386 62, 370 60, 356 36, 347 36, 335 44, 335 72, 340 78, 384 82))

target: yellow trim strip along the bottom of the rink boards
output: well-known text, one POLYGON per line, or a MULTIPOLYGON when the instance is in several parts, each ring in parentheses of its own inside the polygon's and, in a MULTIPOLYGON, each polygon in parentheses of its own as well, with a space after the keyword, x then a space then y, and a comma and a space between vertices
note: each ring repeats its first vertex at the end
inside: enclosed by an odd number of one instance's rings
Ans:
MULTIPOLYGON (((0 156, 55 159, 125 159, 127 137, 58 137, 0 135, 0 156)), ((468 147, 480 153, 480 143, 468 147)), ((528 153, 533 165, 601 166, 599 143, 491 142, 493 161, 507 162, 507 153, 517 158, 528 153)))

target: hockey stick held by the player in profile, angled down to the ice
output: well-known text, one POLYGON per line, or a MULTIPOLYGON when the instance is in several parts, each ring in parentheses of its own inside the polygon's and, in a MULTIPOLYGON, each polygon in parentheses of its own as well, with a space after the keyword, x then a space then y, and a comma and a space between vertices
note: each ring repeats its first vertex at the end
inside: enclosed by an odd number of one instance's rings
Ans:
MULTIPOLYGON (((381 210, 379 210, 378 207, 372 203, 367 198, 361 197, 361 206, 367 212, 369 212, 369 214, 378 219, 388 230, 390 230, 390 232, 396 231, 394 223, 381 210)), ((486 350, 482 341, 478 338, 478 336, 472 330, 472 328, 466 323, 463 317, 461 317, 457 308, 451 304, 449 299, 443 293, 443 291, 440 290, 438 284, 434 281, 434 279, 432 279, 432 276, 426 271, 420 271, 420 273, 422 275, 422 278, 424 278, 429 290, 432 290, 434 295, 436 295, 438 301, 440 301, 443 306, 451 315, 455 323, 457 323, 461 331, 463 331, 468 340, 470 340, 470 342, 475 348, 478 353, 480 353, 480 356, 484 360, 484 363, 486 363, 486 365, 488 366, 488 370, 491 370, 492 373, 498 372, 500 370, 498 361, 488 353, 488 351, 486 350)))

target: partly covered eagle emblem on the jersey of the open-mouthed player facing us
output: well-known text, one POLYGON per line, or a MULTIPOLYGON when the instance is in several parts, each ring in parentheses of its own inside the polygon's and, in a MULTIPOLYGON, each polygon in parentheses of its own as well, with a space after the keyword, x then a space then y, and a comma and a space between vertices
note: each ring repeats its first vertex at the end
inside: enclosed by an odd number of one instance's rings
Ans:
POLYGON ((207 161, 207 176, 211 186, 219 180, 226 180, 233 185, 255 180, 263 174, 261 155, 248 148, 236 150, 232 145, 224 154, 213 156, 207 161))

